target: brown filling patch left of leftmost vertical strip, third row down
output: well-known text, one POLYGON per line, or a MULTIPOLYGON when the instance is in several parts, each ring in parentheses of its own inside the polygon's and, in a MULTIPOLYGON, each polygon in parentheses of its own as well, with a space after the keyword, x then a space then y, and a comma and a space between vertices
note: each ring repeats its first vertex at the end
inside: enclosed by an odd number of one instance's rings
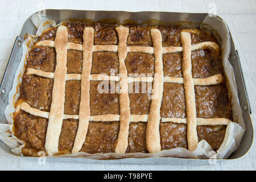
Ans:
POLYGON ((52 102, 53 80, 34 75, 24 75, 20 85, 19 99, 31 107, 49 111, 52 102))

